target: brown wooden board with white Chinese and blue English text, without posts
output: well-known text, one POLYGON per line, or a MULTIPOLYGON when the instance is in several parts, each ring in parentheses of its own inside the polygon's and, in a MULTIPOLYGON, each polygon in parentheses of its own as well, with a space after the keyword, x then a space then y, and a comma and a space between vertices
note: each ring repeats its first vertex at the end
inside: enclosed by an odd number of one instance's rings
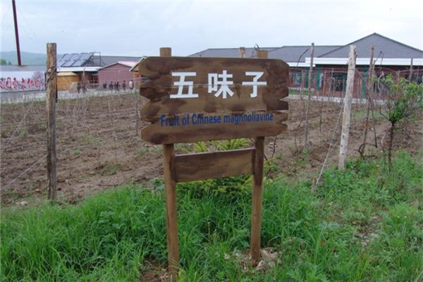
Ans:
POLYGON ((281 60, 149 57, 140 110, 154 144, 274 136, 286 129, 288 65, 281 60))

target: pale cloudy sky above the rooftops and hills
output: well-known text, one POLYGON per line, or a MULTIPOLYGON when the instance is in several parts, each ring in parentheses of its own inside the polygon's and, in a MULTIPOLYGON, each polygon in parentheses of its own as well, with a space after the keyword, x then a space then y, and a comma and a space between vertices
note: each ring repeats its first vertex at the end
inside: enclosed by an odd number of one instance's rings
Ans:
MULTIPOLYGON (((1 2, 1 51, 16 50, 11 0, 1 2)), ((20 50, 173 56, 207 48, 343 45, 377 32, 423 49, 422 0, 16 0, 20 50)))

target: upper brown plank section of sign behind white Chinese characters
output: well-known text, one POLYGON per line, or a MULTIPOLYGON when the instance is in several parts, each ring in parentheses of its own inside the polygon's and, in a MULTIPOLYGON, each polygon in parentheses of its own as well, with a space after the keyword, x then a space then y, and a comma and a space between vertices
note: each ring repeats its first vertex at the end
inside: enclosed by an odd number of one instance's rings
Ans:
MULTIPOLYGON (((288 65, 281 60, 272 59, 237 59, 237 58, 191 58, 149 57, 140 62, 138 71, 150 78, 140 86, 140 94, 151 101, 141 109, 141 116, 149 120, 152 116, 161 114, 182 114, 185 112, 226 113, 232 111, 286 110, 288 103, 281 99, 288 96, 288 65), (215 96, 209 92, 209 73, 223 73, 232 85, 228 85, 233 94, 215 96), (254 75, 247 71, 262 72, 258 82, 266 85, 243 85, 252 82, 254 75), (192 93, 195 98, 175 98, 178 92, 178 82, 181 77, 172 73, 195 73, 186 76, 184 82, 192 82, 192 93), (253 89, 257 91, 253 93, 253 89)), ((221 80, 219 78, 219 80, 221 80)), ((183 93, 188 93, 188 85, 183 87, 183 93)))

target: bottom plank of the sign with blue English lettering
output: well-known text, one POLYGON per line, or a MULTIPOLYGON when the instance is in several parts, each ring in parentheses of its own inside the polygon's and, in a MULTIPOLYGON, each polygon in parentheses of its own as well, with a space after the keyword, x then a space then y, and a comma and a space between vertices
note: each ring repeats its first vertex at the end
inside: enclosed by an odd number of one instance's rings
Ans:
POLYGON ((241 137, 275 136, 286 130, 287 126, 283 124, 283 121, 286 121, 288 114, 281 112, 262 112, 257 114, 161 116, 161 119, 156 123, 142 128, 141 137, 143 140, 154 144, 171 144, 241 137), (241 121, 241 118, 246 119, 245 116, 257 114, 260 118, 264 117, 268 120, 241 121), (269 115, 271 115, 271 120, 269 115), (183 125, 185 118, 189 120, 188 125, 183 125), (236 118, 240 122, 236 123, 236 118), (209 124, 198 124, 200 121, 207 121, 209 124), (210 121, 213 123, 210 123, 210 121), (217 121, 221 122, 217 123, 217 121))

